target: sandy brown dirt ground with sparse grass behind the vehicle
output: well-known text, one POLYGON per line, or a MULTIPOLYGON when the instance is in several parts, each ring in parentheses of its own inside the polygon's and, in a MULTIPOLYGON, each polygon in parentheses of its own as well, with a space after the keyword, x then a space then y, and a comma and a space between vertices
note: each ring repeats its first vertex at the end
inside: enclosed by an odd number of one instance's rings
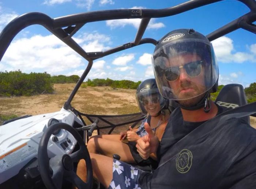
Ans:
MULTIPOLYGON (((59 111, 68 99, 75 84, 55 84, 54 94, 31 97, 0 97, 0 114, 18 116, 37 115, 59 111)), ((71 102, 75 109, 88 114, 118 115, 139 112, 135 90, 110 87, 80 88, 71 102)), ((256 118, 251 125, 256 128, 256 118)))

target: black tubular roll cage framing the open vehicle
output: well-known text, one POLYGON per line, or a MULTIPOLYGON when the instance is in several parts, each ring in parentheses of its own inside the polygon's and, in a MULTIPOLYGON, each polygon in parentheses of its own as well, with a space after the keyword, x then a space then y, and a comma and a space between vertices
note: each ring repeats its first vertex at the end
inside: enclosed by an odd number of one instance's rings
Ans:
MULTIPOLYGON (((107 56, 112 53, 119 52, 128 48, 132 48, 137 45, 142 44, 153 44, 156 45, 157 41, 152 38, 142 38, 143 34, 147 28, 147 25, 151 18, 161 18, 172 15, 177 15, 185 11, 189 11, 204 5, 216 3, 223 0, 190 0, 185 3, 164 8, 164 9, 117 9, 117 10, 103 10, 103 11, 91 11, 80 14, 73 14, 62 16, 59 18, 50 18, 48 15, 40 12, 30 12, 23 14, 12 20, 0 34, 0 61, 3 58, 3 55, 10 45, 12 39, 21 31, 22 29, 33 25, 39 24, 44 26, 52 34, 56 35, 61 41, 67 44, 70 48, 75 50, 80 56, 85 58, 88 61, 88 65, 84 70, 81 78, 76 84, 74 90, 71 92, 68 100, 64 104, 64 109, 73 109, 71 107, 71 101, 74 98, 78 88, 82 84, 83 80, 86 78, 89 73, 93 61, 107 56), (128 42, 126 44, 117 46, 115 48, 101 51, 101 52, 85 52, 81 46, 79 46, 72 36, 84 26, 84 24, 89 22, 97 22, 103 20, 114 20, 114 19, 134 19, 141 18, 139 29, 135 35, 133 42, 128 42)), ((213 31, 212 33, 206 35, 207 38, 212 41, 223 35, 226 35, 237 29, 244 29, 256 34, 256 25, 253 22, 256 21, 256 1, 255 0, 237 0, 245 4, 249 9, 245 15, 240 16, 239 18, 227 23, 225 26, 220 27, 219 29, 213 31)), ((74 109, 73 109, 74 110, 74 109)))

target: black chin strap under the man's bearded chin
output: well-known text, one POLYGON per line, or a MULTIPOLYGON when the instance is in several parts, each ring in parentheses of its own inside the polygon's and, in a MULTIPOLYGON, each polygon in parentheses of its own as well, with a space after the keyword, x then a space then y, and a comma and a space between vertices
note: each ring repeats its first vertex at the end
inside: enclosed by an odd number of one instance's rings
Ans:
MULTIPOLYGON (((176 102, 179 103, 178 101, 176 101, 176 102)), ((182 109, 185 109, 185 110, 198 110, 198 109, 204 107, 204 112, 208 113, 211 110, 210 93, 206 92, 204 94, 204 97, 194 106, 182 106, 182 105, 180 105, 180 107, 182 109)))

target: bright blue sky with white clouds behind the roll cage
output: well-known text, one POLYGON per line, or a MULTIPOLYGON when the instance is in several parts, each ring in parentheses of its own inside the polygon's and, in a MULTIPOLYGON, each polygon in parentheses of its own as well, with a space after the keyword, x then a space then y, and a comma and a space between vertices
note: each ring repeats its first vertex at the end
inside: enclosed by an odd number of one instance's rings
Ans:
MULTIPOLYGON (((183 2, 185 0, 0 0, 0 30, 16 16, 27 12, 42 12, 57 18, 97 10, 167 8, 183 2)), ((207 35, 247 12, 249 8, 239 1, 225 0, 180 15, 151 19, 143 38, 158 40, 169 31, 179 28, 193 28, 207 35)), ((87 52, 107 50, 133 41, 139 23, 140 19, 87 23, 74 38, 87 52)), ((240 83, 248 87, 250 83, 256 82, 255 34, 239 29, 212 43, 219 63, 219 84, 240 83)), ((153 50, 154 45, 140 45, 95 60, 87 78, 133 81, 152 78, 153 50)), ((20 69, 26 73, 46 71, 51 75, 81 76, 86 66, 86 60, 48 30, 33 25, 14 38, 0 62, 0 71, 20 69)))

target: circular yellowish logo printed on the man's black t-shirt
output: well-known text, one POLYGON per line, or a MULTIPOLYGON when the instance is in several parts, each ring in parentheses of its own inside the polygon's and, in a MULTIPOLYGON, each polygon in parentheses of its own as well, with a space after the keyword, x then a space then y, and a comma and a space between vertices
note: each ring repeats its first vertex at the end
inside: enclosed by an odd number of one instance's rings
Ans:
POLYGON ((192 152, 184 149, 181 150, 176 158, 176 169, 180 173, 187 173, 192 166, 192 152))

